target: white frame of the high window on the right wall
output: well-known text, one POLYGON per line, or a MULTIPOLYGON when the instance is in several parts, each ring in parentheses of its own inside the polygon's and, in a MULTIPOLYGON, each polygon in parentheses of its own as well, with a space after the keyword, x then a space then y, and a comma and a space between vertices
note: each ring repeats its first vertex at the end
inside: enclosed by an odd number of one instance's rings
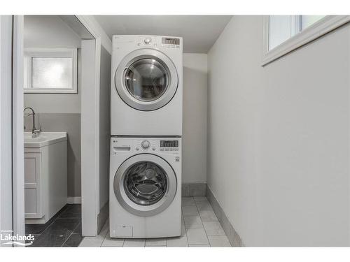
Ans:
POLYGON ((350 15, 326 15, 321 20, 311 24, 306 29, 300 31, 294 36, 288 38, 283 43, 269 50, 269 15, 263 17, 263 44, 262 44, 262 62, 265 66, 272 61, 283 57, 285 54, 300 48, 302 45, 314 41, 316 38, 329 33, 330 31, 341 27, 350 22, 350 15))

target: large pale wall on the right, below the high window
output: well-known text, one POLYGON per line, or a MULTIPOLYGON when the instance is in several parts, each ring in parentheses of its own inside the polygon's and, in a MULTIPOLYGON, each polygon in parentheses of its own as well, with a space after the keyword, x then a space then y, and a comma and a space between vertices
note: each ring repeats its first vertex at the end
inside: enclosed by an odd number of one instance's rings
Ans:
POLYGON ((262 17, 209 52, 208 183, 247 246, 349 246, 349 24, 262 67, 262 17))

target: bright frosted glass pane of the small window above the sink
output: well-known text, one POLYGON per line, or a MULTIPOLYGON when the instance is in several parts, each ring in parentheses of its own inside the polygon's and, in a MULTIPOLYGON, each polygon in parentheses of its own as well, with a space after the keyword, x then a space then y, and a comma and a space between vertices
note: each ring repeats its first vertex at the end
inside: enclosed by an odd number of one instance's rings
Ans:
POLYGON ((33 57, 31 62, 32 88, 72 88, 70 57, 33 57))

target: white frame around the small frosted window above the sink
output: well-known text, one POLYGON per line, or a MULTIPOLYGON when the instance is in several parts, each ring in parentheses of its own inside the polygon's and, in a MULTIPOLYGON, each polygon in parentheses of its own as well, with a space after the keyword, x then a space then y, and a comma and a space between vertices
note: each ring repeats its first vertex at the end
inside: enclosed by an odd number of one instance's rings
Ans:
POLYGON ((25 48, 24 61, 25 94, 78 94, 78 50, 76 48, 25 48), (33 57, 52 57, 72 59, 71 88, 34 88, 31 86, 31 59, 33 57))

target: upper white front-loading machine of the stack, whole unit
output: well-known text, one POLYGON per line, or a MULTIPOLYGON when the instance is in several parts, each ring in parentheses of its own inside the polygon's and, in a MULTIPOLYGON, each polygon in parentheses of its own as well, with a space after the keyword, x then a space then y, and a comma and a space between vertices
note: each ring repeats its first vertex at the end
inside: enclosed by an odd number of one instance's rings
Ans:
POLYGON ((182 135, 183 39, 113 36, 111 135, 182 135))

